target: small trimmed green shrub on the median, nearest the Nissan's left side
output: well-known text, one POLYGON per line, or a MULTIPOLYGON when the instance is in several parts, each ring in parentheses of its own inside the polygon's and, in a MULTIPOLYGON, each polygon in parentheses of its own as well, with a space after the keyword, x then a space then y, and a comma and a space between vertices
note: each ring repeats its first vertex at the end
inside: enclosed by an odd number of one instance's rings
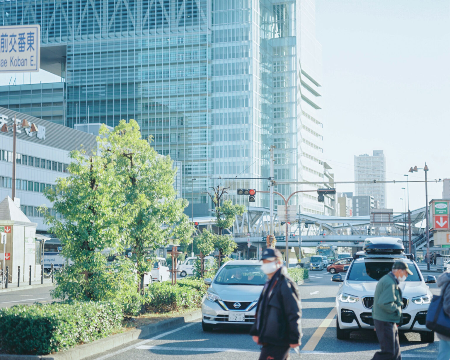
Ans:
POLYGON ((145 307, 149 311, 180 311, 202 304, 200 292, 187 285, 172 286, 170 283, 155 283, 150 286, 149 291, 153 297, 145 307))

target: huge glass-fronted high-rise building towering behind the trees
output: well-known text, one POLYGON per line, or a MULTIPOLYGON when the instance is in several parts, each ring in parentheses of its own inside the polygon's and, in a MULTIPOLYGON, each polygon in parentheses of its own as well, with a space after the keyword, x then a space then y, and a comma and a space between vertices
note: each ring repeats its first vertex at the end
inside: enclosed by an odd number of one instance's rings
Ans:
MULTIPOLYGON (((288 195, 323 179, 321 47, 314 0, 17 0, 0 23, 41 27, 41 68, 65 83, 64 123, 134 118, 158 153, 182 163, 183 195, 212 185, 288 195), (192 189, 192 190, 191 190, 192 189)), ((21 111, 20 108, 18 108, 21 111)), ((323 213, 315 196, 292 203, 323 213)), ((256 206, 268 206, 258 196, 256 206)))

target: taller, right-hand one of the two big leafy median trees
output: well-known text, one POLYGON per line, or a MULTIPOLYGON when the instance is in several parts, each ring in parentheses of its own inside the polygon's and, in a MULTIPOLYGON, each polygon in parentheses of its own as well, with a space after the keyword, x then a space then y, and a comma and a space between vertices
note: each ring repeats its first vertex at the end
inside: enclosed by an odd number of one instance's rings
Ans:
POLYGON ((144 274, 151 270, 148 252, 176 243, 190 241, 192 225, 183 213, 187 201, 177 199, 173 188, 176 169, 170 157, 161 157, 141 139, 138 123, 121 120, 112 132, 100 130, 100 149, 120 178, 123 199, 121 212, 125 224, 121 233, 128 239, 137 264, 139 290, 144 288, 144 274))

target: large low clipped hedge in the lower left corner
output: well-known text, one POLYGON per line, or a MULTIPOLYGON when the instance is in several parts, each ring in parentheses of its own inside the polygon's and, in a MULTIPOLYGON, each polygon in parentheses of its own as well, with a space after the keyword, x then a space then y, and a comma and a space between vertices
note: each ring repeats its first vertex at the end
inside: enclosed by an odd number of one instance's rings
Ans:
POLYGON ((45 355, 104 338, 121 326, 113 302, 18 305, 0 309, 0 346, 12 354, 45 355))

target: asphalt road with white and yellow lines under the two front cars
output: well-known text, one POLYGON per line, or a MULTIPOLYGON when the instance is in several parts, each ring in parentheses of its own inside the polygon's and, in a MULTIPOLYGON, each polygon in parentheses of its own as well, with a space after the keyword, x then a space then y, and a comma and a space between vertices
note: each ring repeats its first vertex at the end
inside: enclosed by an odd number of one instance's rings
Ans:
MULTIPOLYGON (((427 275, 427 274, 425 274, 427 275)), ((433 274, 431 274, 433 275, 433 274)), ((291 359, 371 359, 379 349, 375 332, 352 333, 348 341, 336 338, 334 306, 339 283, 330 281, 331 275, 310 272, 311 280, 300 287, 302 293, 302 354, 292 351, 291 359)), ((432 292, 439 290, 430 285, 432 292)), ((405 359, 436 359, 438 339, 432 344, 420 342, 416 333, 401 334, 402 357, 405 359)), ((147 339, 139 339, 129 345, 117 347, 88 360, 256 360, 260 347, 248 335, 247 329, 202 331, 200 322, 184 324, 147 339)))

